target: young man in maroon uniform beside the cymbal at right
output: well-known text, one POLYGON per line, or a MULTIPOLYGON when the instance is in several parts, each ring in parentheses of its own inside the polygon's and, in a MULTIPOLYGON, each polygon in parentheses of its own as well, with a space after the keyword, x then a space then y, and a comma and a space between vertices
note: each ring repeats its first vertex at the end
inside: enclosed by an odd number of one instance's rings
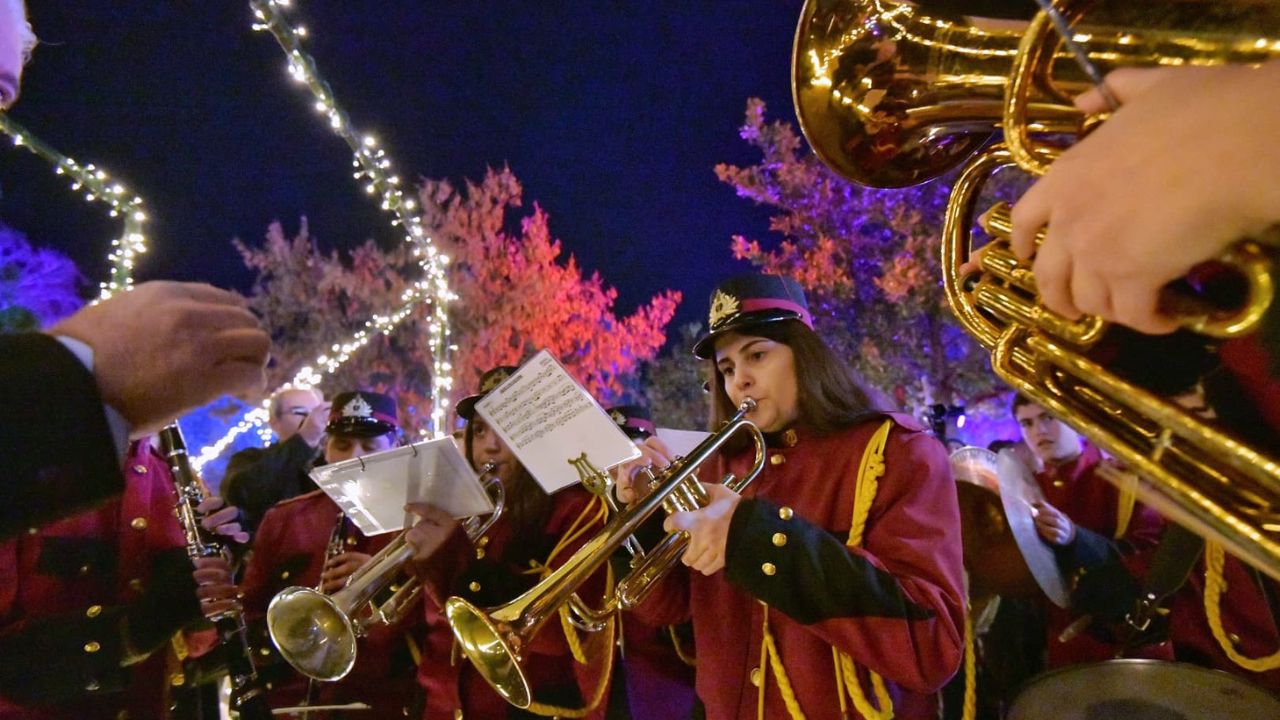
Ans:
MULTIPOLYGON (((1071 580, 1079 574, 1115 562, 1132 573, 1144 574, 1144 565, 1160 542, 1164 519, 1135 502, 1132 493, 1121 492, 1098 475, 1100 465, 1106 462, 1102 454, 1066 423, 1023 396, 1014 398, 1012 410, 1023 439, 1039 465, 1036 483, 1044 501, 1034 506, 1036 530, 1053 546, 1069 584, 1075 584, 1071 580)), ((1111 660, 1125 652, 1126 648, 1111 638, 1102 639, 1083 628, 1064 637, 1079 616, 1079 610, 1047 607, 1050 669, 1111 660)), ((1130 652, 1151 659, 1171 659, 1170 653, 1167 644, 1130 652)))

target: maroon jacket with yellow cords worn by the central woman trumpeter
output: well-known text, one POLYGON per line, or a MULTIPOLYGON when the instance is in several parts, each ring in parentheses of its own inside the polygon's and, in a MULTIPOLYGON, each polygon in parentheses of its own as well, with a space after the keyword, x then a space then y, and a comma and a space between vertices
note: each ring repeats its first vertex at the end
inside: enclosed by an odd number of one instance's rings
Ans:
MULTIPOLYGON (((637 609, 655 624, 692 616, 708 720, 755 717, 759 683, 763 716, 790 716, 760 666, 762 602, 810 720, 841 716, 832 647, 858 665, 864 688, 867 670, 884 678, 895 717, 936 717, 936 691, 963 653, 960 511, 942 446, 911 418, 888 418, 861 547, 845 541, 864 448, 884 416, 829 436, 788 430, 777 446, 771 438, 764 470, 733 512, 726 568, 704 577, 680 566, 637 609)), ((750 450, 737 454, 728 469, 744 477, 751 460, 750 450)))

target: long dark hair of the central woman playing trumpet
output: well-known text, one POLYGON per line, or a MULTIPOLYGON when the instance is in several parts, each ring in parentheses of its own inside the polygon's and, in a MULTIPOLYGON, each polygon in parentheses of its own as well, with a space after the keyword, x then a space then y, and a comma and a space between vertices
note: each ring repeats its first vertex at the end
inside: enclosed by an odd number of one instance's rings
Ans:
MULTIPOLYGON (((852 370, 827 347, 818 333, 800 320, 762 323, 740 331, 741 334, 781 342, 795 355, 800 421, 820 434, 856 425, 878 413, 852 370)), ((724 375, 714 368, 712 393, 712 429, 737 413, 724 392, 724 375)))

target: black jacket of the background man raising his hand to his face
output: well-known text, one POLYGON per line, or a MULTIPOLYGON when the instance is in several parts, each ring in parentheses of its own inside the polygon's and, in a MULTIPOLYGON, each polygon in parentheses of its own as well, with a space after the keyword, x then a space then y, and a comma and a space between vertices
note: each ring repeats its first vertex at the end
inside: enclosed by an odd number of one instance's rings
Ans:
POLYGON ((256 530, 273 505, 310 489, 302 478, 315 454, 300 436, 265 448, 242 450, 227 462, 223 498, 244 512, 250 532, 256 530))

